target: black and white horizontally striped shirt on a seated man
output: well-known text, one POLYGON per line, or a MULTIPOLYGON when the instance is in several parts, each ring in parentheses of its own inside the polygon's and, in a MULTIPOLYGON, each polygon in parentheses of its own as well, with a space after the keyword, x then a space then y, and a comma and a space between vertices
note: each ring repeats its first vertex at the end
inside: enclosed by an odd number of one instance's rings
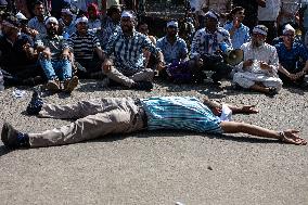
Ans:
POLYGON ((67 41, 69 49, 74 51, 76 60, 91 60, 93 57, 93 50, 101 48, 98 37, 89 31, 86 36, 79 36, 78 31, 74 33, 67 41))

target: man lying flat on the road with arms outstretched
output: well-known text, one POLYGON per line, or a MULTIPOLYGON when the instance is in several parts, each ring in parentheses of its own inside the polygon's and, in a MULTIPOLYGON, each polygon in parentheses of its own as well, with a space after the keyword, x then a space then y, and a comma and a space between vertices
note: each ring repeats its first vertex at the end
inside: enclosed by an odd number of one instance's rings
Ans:
POLYGON ((28 114, 40 117, 76 119, 61 128, 38 133, 24 133, 5 123, 1 140, 8 148, 39 148, 72 144, 97 139, 108 133, 130 133, 139 130, 189 130, 198 133, 238 133, 278 139, 285 143, 307 144, 298 131, 269 130, 245 123, 231 121, 232 112, 258 113, 253 106, 217 104, 208 99, 191 97, 103 98, 70 105, 44 104, 37 93, 27 107, 28 114))

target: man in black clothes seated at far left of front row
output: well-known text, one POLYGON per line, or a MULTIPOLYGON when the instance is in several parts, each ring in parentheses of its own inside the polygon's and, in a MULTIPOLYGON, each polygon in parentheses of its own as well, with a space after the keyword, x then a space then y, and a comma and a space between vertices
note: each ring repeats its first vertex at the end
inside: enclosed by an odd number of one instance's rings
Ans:
POLYGON ((13 15, 2 22, 0 37, 0 69, 5 86, 35 86, 41 82, 42 72, 37 65, 37 55, 31 47, 33 40, 20 34, 21 24, 13 15), (16 61, 17 60, 17 61, 16 61))

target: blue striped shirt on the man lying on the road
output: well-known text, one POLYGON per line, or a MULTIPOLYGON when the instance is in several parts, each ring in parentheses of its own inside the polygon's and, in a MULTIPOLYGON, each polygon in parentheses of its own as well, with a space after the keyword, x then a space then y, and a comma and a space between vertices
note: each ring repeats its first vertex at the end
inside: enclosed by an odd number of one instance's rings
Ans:
POLYGON ((198 99, 191 97, 152 97, 141 99, 147 116, 147 129, 179 129, 221 133, 219 117, 198 99))

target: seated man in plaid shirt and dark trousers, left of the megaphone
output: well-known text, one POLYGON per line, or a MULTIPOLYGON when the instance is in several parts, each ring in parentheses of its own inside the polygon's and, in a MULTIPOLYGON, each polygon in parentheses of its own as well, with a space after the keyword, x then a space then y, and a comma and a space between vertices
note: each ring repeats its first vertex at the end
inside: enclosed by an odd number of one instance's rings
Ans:
POLYGON ((191 44, 191 59, 203 60, 203 68, 214 71, 213 82, 220 86, 220 79, 228 78, 233 67, 226 64, 221 56, 221 44, 231 46, 229 33, 218 26, 219 15, 209 11, 205 15, 205 27, 197 30, 191 44))

